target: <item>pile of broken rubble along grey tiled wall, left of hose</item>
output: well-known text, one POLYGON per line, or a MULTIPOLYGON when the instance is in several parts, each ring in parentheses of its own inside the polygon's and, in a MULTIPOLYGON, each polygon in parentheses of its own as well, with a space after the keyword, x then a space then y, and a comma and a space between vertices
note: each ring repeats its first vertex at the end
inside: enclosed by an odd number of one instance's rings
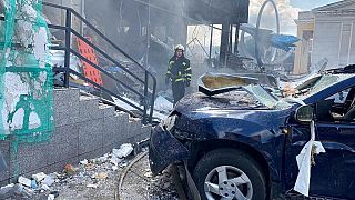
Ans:
MULTIPOLYGON (((95 159, 84 159, 78 166, 67 164, 62 172, 45 174, 43 172, 32 174, 31 178, 21 176, 14 184, 8 184, 0 189, 0 199, 91 199, 105 198, 110 191, 113 196, 120 169, 128 164, 132 144, 125 143, 120 149, 113 149, 111 153, 95 159), (79 197, 75 191, 97 189, 92 197, 79 197), (100 193, 101 192, 101 193, 100 193), (62 196, 63 194, 63 196, 62 196), (61 197, 59 197, 61 196, 61 197), (74 198, 77 197, 77 198, 74 198)), ((109 198, 111 199, 111 198, 109 198)))

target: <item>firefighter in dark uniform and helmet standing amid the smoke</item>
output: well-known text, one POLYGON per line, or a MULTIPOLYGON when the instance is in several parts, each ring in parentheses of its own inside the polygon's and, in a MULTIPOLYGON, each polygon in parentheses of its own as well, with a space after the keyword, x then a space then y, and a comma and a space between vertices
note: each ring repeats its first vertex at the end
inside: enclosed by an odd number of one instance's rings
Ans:
POLYGON ((165 83, 172 83, 174 104, 185 96, 186 87, 191 82, 190 60, 184 56, 184 47, 175 47, 175 54, 169 60, 165 83))

